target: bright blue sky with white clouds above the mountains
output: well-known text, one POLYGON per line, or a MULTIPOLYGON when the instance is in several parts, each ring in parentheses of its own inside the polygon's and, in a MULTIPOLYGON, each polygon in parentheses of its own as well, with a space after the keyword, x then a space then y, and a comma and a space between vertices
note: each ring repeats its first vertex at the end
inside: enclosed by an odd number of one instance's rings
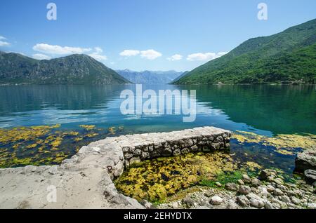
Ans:
POLYGON ((185 71, 256 36, 316 18, 315 0, 1 0, 0 50, 86 53, 112 69, 185 71), (57 5, 47 20, 46 5, 57 5), (268 20, 258 20, 258 4, 268 20))

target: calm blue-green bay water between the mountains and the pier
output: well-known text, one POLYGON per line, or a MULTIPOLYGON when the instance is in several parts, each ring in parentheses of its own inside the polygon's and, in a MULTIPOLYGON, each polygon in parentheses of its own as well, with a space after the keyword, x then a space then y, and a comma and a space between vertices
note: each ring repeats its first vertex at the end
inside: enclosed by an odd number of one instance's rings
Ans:
MULTIPOLYGON (((122 115, 121 90, 136 92, 135 88, 1 86, 0 128, 61 124, 65 130, 77 130, 79 125, 96 125, 105 129, 124 126, 124 133, 143 133, 216 126, 268 136, 316 135, 315 86, 143 86, 143 90, 157 94, 165 89, 197 90, 197 118, 192 123, 183 123, 182 115, 122 115)), ((274 153, 273 148, 241 146, 235 140, 231 145, 232 153, 243 161, 274 165, 288 172, 294 168, 294 156, 274 153)), ((67 156, 75 152, 71 150, 67 156)), ((21 154, 23 151, 17 156, 21 154)))

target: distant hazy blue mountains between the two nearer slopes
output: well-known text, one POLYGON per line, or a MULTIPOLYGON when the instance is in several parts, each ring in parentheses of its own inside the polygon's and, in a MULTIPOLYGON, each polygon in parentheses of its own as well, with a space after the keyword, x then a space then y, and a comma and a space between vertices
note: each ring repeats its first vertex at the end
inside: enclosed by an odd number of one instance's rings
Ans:
POLYGON ((168 71, 168 72, 134 72, 129 69, 117 70, 121 76, 125 79, 131 81, 132 83, 141 84, 165 84, 171 83, 178 76, 183 74, 183 72, 168 71))

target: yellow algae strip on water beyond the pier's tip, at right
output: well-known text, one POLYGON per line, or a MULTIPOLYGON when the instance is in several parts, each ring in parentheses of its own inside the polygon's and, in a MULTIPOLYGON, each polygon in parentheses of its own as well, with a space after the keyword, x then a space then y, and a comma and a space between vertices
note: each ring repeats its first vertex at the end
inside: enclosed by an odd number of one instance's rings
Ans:
POLYGON ((275 137, 267 137, 264 135, 257 135, 256 133, 249 133, 244 131, 236 131, 232 138, 239 143, 256 143, 263 144, 264 146, 275 147, 275 151, 279 154, 291 155, 293 149, 315 149, 316 148, 316 135, 286 135, 279 134, 275 137))

